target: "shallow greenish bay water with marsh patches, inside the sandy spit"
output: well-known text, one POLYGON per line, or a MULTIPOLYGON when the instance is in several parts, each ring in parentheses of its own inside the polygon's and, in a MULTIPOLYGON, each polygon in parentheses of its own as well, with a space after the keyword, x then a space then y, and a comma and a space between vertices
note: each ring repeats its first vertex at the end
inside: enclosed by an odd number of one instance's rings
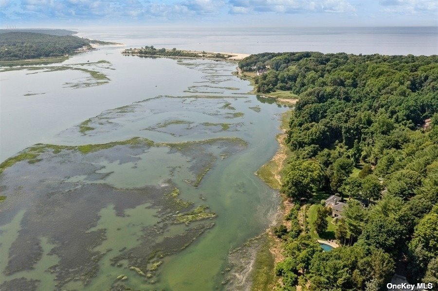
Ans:
MULTIPOLYGON (((226 271, 229 252, 273 220, 277 193, 254 172, 276 151, 277 115, 287 108, 246 94, 251 87, 231 74, 234 63, 113 52, 68 61, 110 61, 110 82, 101 86, 60 87, 75 71, 2 73, 2 90, 11 96, 5 105, 32 113, 13 114, 17 122, 8 121, 2 135, 28 134, 27 146, 132 137, 154 144, 122 142, 88 153, 46 147, 37 162, 19 161, 3 171, 0 284, 40 290, 223 289, 233 272, 226 271), (26 90, 14 86, 32 81, 30 76, 34 82, 52 78, 52 86, 46 94, 24 96, 35 84, 26 90), (21 105, 25 98, 33 98, 39 111, 21 105), (59 122, 46 119, 52 113, 59 122), (36 134, 27 133, 18 119, 37 116, 36 134), (89 128, 81 131, 85 120, 89 128), (175 188, 179 194, 172 196, 175 188), (178 223, 179 215, 199 205, 214 217, 178 223), (126 279, 117 279, 121 275, 126 279)), ((4 153, 12 153, 18 141, 3 143, 4 153)))

